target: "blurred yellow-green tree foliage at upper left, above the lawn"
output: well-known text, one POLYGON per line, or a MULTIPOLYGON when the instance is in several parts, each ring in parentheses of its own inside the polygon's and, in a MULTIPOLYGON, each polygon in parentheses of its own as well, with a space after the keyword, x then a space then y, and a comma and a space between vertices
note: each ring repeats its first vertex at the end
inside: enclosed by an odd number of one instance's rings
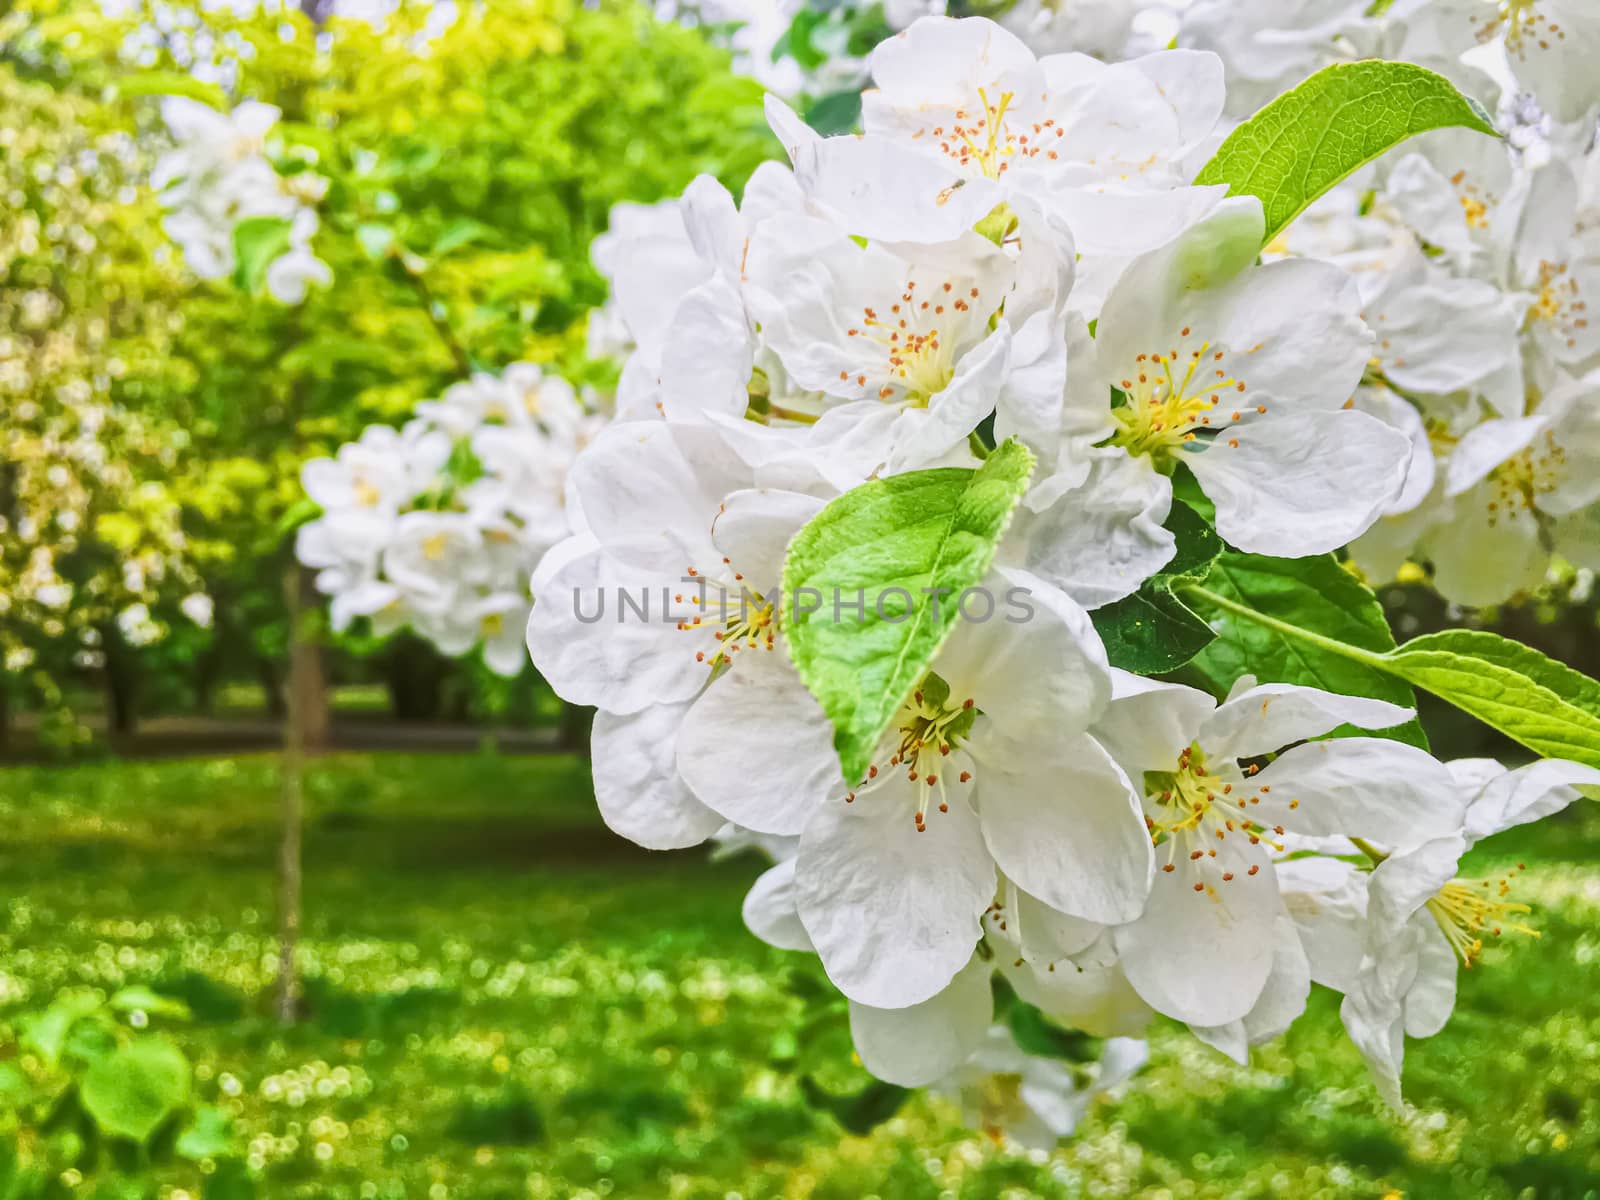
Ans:
MULTIPOLYGON (((429 24, 430 5, 402 5, 378 26, 317 22, 286 5, 246 16, 210 10, 29 0, 0 18, 5 128, 14 138, 34 128, 13 101, 27 96, 51 114, 59 141, 3 170, 70 162, 69 146, 86 150, 94 139, 122 149, 101 155, 101 174, 115 166, 114 181, 74 174, 51 186, 54 200, 30 198, 30 224, 109 226, 99 235, 120 238, 69 245, 59 253, 75 258, 54 269, 94 293, 75 302, 74 320, 112 328, 112 314, 125 312, 138 328, 120 341, 138 349, 99 349, 101 362, 115 357, 115 379, 90 371, 83 354, 58 358, 109 389, 102 406, 114 419, 99 443, 123 482, 98 506, 120 514, 101 520, 115 550, 93 557, 101 576, 120 579, 130 555, 168 554, 162 570, 149 565, 134 578, 142 587, 98 586, 102 603, 82 610, 93 613, 85 651, 45 637, 54 650, 42 656, 40 637, 5 635, 34 654, 29 686, 13 685, 13 707, 59 710, 106 688, 114 731, 139 714, 210 710, 238 680, 258 683, 267 709, 282 712, 282 578, 301 515, 301 464, 374 421, 402 424, 418 400, 474 368, 552 362, 608 384, 610 365, 586 358, 582 328, 605 299, 589 243, 611 206, 675 195, 699 173, 738 189, 778 154, 760 86, 734 77, 726 53, 699 32, 661 24, 638 5, 512 0, 467 8, 443 30, 429 24), (165 93, 283 109, 283 142, 330 181, 315 238, 333 269, 330 288, 282 307, 182 270, 147 186, 166 144, 165 93), (106 203, 102 194, 120 197, 115 213, 66 211, 106 203), (160 494, 141 491, 157 478, 160 494), (194 590, 213 600, 210 627, 179 616, 178 602, 194 590), (117 616, 138 605, 123 630, 117 616)), ((13 261, 5 304, 43 312, 32 259, 13 261)), ((29 395, 53 387, 37 370, 29 378, 29 395)), ((8 384, 6 403, 22 402, 8 384)), ((19 509, 6 507, 14 530, 19 509)), ((27 558, 8 538, 5 570, 18 574, 27 558)), ((13 627, 54 624, 48 613, 11 614, 13 627)), ((331 677, 382 682, 390 709, 408 717, 490 715, 512 702, 526 715, 531 680, 496 685, 474 664, 402 638, 395 653, 360 630, 338 638, 331 677)))

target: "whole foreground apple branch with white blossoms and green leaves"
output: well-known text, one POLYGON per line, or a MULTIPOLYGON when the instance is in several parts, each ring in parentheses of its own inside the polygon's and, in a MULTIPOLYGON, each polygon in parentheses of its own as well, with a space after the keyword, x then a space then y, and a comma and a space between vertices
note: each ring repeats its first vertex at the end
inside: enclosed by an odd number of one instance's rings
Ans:
POLYGON ((790 168, 595 246, 627 360, 526 632, 598 709, 600 810, 763 846, 746 920, 821 958, 862 1064, 1022 1142, 1083 1102, 1040 1029, 1110 1038, 1110 1085, 1155 1014, 1245 1061, 1312 982, 1402 1106, 1456 965, 1533 928, 1462 853, 1600 786, 1592 680, 1397 646, 1355 570, 1488 603, 1592 552, 1592 171, 1552 126, 1587 22, 1459 5, 1434 54, 1510 86, 1568 46, 1547 117, 1496 126, 1344 53, 1451 5, 1357 8, 1230 131, 1230 54, 926 16, 870 53, 862 134, 771 99, 790 168), (1440 762, 1418 688, 1539 762, 1440 762))

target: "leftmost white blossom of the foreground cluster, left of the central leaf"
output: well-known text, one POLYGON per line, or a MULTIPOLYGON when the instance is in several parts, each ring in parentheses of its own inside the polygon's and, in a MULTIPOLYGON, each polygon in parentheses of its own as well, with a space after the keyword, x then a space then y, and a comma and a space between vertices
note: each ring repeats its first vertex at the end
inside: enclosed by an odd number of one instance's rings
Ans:
POLYGON ((696 845, 723 824, 674 762, 691 720, 725 733, 701 706, 747 675, 805 694, 771 653, 774 589, 784 546, 834 488, 803 456, 763 464, 778 430, 739 432, 675 421, 606 429, 570 478, 582 531, 550 550, 531 584, 534 664, 558 694, 600 709, 602 816, 650 848, 696 845), (794 490, 760 491, 773 480, 794 490))

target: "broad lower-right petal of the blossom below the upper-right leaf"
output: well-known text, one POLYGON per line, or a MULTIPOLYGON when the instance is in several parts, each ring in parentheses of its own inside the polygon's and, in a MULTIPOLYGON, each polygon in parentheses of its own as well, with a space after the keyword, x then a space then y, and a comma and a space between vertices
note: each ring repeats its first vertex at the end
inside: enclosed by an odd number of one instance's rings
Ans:
POLYGON ((1405 434, 1354 410, 1269 416, 1184 461, 1240 550, 1299 558, 1365 533, 1405 486, 1405 434))

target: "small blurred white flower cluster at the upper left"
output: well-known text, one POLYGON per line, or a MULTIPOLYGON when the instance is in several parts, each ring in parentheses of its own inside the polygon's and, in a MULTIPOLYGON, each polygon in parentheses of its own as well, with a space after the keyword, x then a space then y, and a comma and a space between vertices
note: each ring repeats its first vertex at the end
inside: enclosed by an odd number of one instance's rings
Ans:
POLYGON ((314 205, 328 181, 310 170, 283 174, 267 158, 267 136, 282 117, 277 107, 245 101, 218 112, 168 96, 162 117, 178 144, 162 155, 150 182, 170 210, 166 235, 182 246, 190 270, 200 278, 226 278, 235 269, 235 230, 245 221, 267 219, 282 222, 285 234, 266 267, 266 288, 275 301, 301 304, 310 286, 333 282, 328 264, 310 248, 318 226, 314 205))

